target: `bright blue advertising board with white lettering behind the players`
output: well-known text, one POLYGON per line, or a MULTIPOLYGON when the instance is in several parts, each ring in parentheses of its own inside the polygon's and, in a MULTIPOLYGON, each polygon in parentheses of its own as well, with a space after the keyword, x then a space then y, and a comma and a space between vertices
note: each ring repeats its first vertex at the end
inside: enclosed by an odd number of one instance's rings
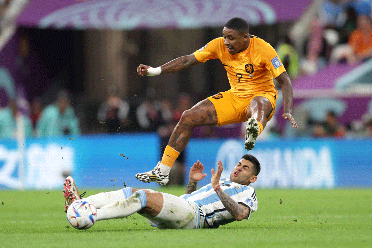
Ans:
MULTIPOLYGON (((204 164, 210 182, 211 168, 224 164, 222 177, 247 151, 240 139, 191 139, 186 152, 186 177, 196 160, 204 164)), ((257 142, 250 152, 261 163, 254 187, 335 188, 372 186, 372 140, 278 140, 257 142)), ((81 136, 0 142, 0 187, 58 189, 66 175, 81 188, 157 187, 134 178, 160 158, 156 134, 81 136)))

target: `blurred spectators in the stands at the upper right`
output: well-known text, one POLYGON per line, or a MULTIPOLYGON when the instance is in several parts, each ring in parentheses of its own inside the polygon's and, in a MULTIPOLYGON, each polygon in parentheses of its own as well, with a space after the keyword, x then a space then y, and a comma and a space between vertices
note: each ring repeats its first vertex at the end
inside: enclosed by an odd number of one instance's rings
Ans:
POLYGON ((308 34, 300 49, 293 30, 276 46, 292 79, 315 74, 330 63, 353 65, 372 57, 371 0, 318 2, 306 16, 308 34))

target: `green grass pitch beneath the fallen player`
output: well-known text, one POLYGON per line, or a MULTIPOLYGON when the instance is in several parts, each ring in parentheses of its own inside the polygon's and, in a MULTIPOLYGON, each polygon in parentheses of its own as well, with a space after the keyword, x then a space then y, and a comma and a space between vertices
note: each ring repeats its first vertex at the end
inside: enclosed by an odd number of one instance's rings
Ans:
MULTIPOLYGON (((184 189, 161 191, 181 195, 184 189)), ((0 246, 372 247, 372 189, 256 192, 259 210, 250 220, 219 229, 158 230, 134 214, 79 231, 66 220, 61 191, 0 191, 0 246)))

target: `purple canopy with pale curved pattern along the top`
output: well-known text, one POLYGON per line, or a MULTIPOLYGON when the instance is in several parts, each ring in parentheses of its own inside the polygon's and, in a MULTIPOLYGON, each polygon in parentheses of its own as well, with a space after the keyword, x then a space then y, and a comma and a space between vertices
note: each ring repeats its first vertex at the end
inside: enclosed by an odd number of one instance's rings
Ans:
POLYGON ((312 0, 31 0, 18 25, 40 28, 199 28, 235 16, 251 25, 298 19, 312 0), (285 7, 283 7, 285 6, 285 7), (290 10, 290 11, 288 11, 290 10))

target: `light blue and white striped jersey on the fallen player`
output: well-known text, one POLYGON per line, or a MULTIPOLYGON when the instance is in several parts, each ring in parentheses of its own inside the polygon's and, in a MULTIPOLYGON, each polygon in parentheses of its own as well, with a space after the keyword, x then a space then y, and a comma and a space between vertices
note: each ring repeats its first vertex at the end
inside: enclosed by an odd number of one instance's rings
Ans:
MULTIPOLYGON (((231 182, 230 179, 227 178, 221 179, 219 184, 220 188, 234 201, 250 209, 247 218, 249 219, 250 214, 258 208, 257 195, 254 188, 231 182)), ((181 195, 180 198, 191 201, 199 206, 201 217, 205 217, 204 228, 218 228, 220 225, 225 225, 235 220, 226 210, 211 184, 205 185, 191 194, 181 195)))

